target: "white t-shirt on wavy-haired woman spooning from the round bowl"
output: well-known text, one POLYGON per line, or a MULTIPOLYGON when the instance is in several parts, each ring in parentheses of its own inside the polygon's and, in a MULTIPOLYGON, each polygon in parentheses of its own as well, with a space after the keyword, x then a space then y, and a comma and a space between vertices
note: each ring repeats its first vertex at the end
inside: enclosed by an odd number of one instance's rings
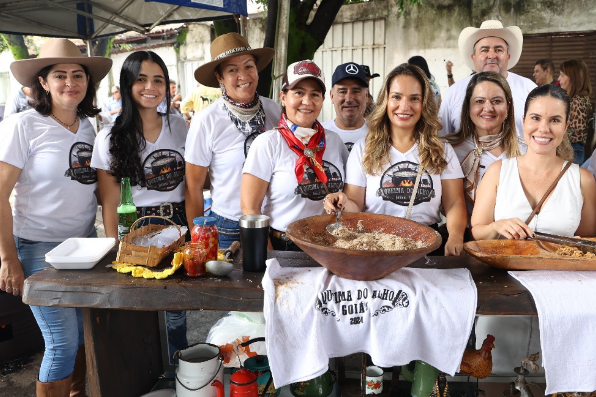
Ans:
MULTIPOLYGON (((362 168, 364 140, 355 143, 346 165, 346 183, 366 187, 364 212, 405 217, 412 196, 412 187, 418 174, 420 154, 418 143, 402 153, 390 148, 391 160, 383 165, 379 175, 366 174, 362 168)), ((424 171, 418 185, 410 219, 425 225, 438 223, 440 220, 442 179, 463 178, 460 162, 449 143, 445 143, 447 167, 442 174, 430 174, 424 171)))

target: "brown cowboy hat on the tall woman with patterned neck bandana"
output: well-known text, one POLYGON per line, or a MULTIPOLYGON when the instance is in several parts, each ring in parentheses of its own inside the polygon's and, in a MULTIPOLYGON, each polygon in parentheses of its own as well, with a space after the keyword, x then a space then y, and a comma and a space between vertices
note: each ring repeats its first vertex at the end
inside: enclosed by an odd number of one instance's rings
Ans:
POLYGON ((252 54, 257 60, 257 70, 263 70, 271 62, 275 50, 269 47, 250 48, 249 42, 238 33, 226 33, 216 37, 211 43, 211 62, 200 65, 194 71, 194 79, 207 87, 219 87, 215 77, 215 68, 219 64, 238 55, 252 54))

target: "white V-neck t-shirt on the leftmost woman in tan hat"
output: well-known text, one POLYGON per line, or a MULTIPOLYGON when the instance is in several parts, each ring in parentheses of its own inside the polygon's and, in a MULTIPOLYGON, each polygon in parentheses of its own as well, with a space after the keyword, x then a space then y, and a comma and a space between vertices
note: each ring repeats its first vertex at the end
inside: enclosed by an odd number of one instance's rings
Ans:
POLYGON ((0 161, 21 169, 14 188, 15 236, 62 242, 91 234, 97 212, 97 173, 89 166, 93 139, 89 120, 81 119, 73 134, 35 110, 0 123, 0 161))

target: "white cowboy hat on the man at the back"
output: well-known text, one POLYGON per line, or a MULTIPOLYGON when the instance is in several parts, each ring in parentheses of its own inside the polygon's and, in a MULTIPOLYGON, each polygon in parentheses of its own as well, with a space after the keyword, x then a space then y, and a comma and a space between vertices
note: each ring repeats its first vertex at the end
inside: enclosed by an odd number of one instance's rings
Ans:
POLYGON ((484 21, 480 25, 480 29, 476 27, 468 26, 460 33, 460 40, 458 45, 460 46, 460 54, 464 58, 465 64, 471 70, 476 70, 474 61, 471 58, 473 53, 474 44, 484 37, 499 37, 509 45, 509 62, 507 68, 510 69, 517 64, 522 55, 523 46, 523 35, 522 29, 517 26, 503 27, 501 21, 484 21))

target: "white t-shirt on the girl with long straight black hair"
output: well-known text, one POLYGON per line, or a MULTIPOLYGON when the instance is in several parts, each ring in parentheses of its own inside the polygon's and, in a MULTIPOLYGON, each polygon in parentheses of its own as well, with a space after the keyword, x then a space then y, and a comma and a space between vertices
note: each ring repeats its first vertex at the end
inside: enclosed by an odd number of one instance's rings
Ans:
MULTIPOLYGON (((145 140, 145 150, 140 152, 141 164, 145 170, 147 186, 132 186, 132 201, 136 207, 154 207, 164 202, 184 201, 184 145, 187 124, 184 118, 170 114, 170 128, 167 118, 162 116, 162 131, 154 143, 145 140)), ((95 139, 95 150, 91 167, 109 171, 110 133, 113 124, 105 127, 95 139)), ((131 148, 134 151, 134 148, 131 148)))

